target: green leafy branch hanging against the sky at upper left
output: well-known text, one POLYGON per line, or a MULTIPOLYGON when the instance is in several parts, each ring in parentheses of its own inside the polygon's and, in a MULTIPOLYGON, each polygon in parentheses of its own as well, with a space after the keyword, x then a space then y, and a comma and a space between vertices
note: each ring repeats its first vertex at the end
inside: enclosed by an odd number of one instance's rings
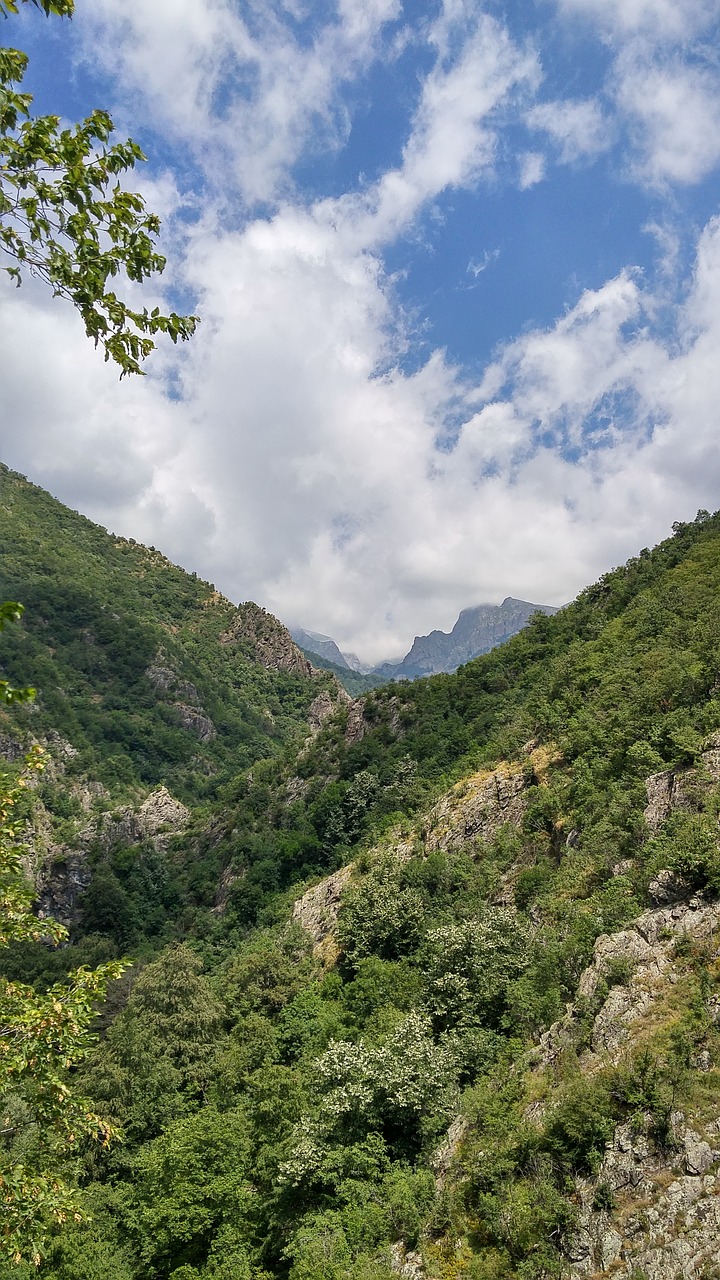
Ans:
MULTIPOLYGON (((46 15, 69 18, 74 0, 20 0, 46 15)), ((18 0, 0 0, 0 14, 18 13, 18 0)), ((86 333, 124 374, 140 374, 154 337, 173 342, 195 332, 196 316, 135 310, 113 291, 124 274, 142 283, 160 274, 165 259, 155 248, 160 229, 142 196, 126 191, 122 174, 145 160, 137 143, 110 143, 113 120, 96 110, 81 124, 60 128, 58 115, 32 118, 32 95, 20 92, 27 55, 0 47, 0 250, 19 285, 23 271, 69 298, 86 333)))

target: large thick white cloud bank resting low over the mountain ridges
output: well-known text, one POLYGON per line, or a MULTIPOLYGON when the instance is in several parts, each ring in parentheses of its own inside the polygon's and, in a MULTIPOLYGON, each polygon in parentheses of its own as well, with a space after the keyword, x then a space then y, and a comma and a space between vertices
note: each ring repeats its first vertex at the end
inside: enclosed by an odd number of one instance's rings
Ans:
POLYGON ((714 506, 720 224, 701 239, 678 351, 648 337, 642 280, 621 273, 510 344, 477 389, 439 353, 414 376, 375 375, 392 292, 377 260, 331 251, 309 216, 200 248, 206 323, 183 352, 184 404, 152 380, 118 397, 82 335, 69 343, 64 308, 28 294, 18 310, 8 292, 3 421, 22 403, 10 461, 236 598, 382 658, 479 599, 561 603, 714 506), (459 399, 465 425, 438 451, 459 399))

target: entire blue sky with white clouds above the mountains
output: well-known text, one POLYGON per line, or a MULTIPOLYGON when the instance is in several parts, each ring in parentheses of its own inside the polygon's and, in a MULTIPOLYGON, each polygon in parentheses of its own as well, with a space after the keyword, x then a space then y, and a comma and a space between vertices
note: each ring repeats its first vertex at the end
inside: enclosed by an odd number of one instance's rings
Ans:
MULTIPOLYGON (((366 662, 720 506, 717 0, 77 0, 0 24, 163 218, 118 380, 0 280, 0 456, 366 662)), ((127 296, 137 300, 132 285, 127 296)))

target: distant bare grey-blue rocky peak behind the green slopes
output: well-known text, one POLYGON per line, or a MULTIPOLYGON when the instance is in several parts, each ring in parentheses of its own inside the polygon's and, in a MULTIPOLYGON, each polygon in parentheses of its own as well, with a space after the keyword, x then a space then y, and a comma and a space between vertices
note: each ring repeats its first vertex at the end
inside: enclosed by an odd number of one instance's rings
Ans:
POLYGON ((511 595, 502 604, 477 604, 462 609, 450 634, 430 631, 428 636, 415 636, 402 662, 380 663, 373 669, 387 680, 418 680, 420 676, 457 671, 457 667, 516 635, 533 613, 551 617, 557 609, 550 604, 515 600, 511 595))

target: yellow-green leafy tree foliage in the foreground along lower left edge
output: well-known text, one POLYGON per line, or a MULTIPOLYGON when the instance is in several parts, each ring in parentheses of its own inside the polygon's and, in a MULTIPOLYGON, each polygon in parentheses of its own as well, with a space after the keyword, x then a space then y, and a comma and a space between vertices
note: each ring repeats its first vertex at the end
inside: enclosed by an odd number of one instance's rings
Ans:
MULTIPOLYGON (((20 613, 20 605, 0 605, 0 631, 20 613)), ((0 701, 28 700, 32 692, 4 682, 0 701)), ((67 937, 63 925, 32 914, 23 870, 18 810, 42 767, 42 749, 33 746, 19 774, 0 768, 0 946, 67 937)), ((0 1242, 13 1262, 37 1265, 53 1225, 82 1217, 61 1166, 83 1137, 106 1146, 114 1135, 113 1125, 72 1092, 69 1071, 94 1046, 96 1005, 124 968, 124 961, 81 968, 45 993, 0 977, 0 1242)))

